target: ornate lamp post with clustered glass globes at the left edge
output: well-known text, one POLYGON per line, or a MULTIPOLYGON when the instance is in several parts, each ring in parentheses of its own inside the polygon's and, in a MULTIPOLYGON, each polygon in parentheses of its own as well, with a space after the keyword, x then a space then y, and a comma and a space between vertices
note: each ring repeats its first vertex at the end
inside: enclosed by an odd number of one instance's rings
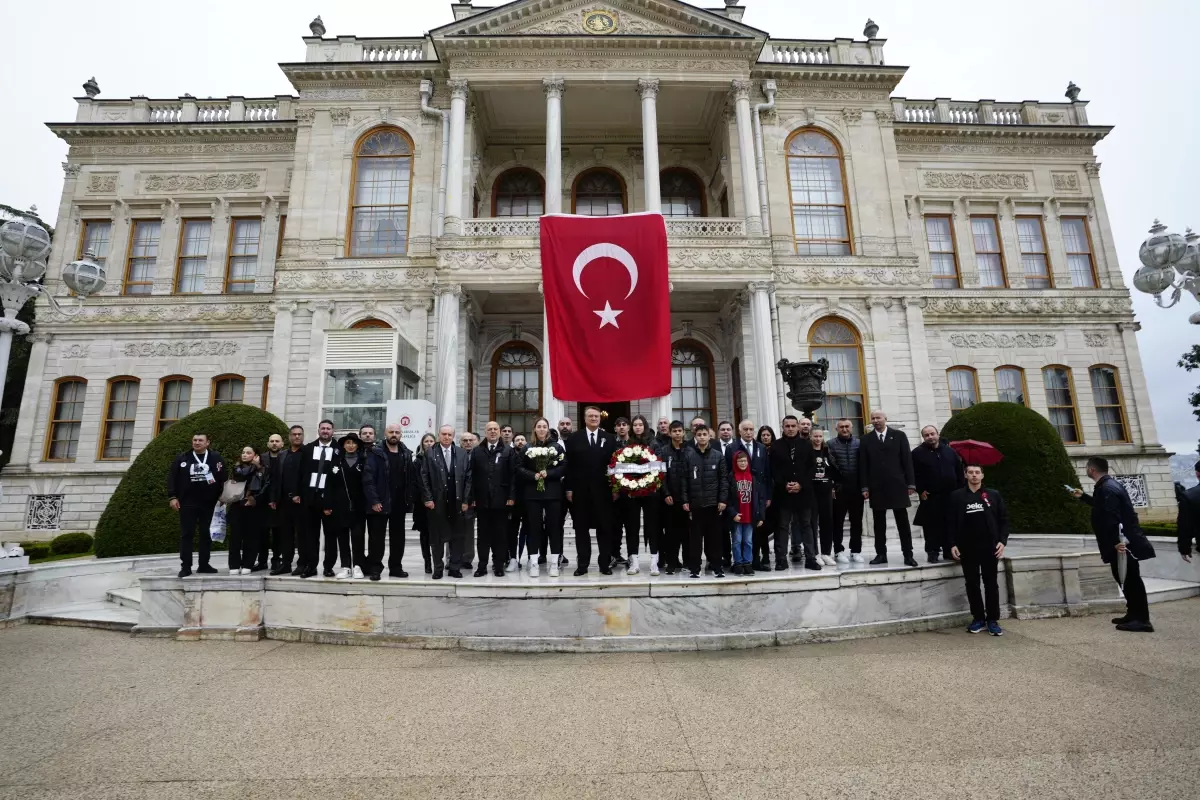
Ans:
POLYGON ((28 333, 29 325, 17 319, 17 312, 30 297, 43 296, 60 314, 73 317, 83 308, 83 299, 104 288, 104 267, 92 253, 62 270, 62 282, 77 295, 77 301, 62 305, 41 282, 46 259, 50 254, 50 234, 31 219, 10 219, 0 225, 0 387, 8 377, 8 353, 13 333, 28 333))

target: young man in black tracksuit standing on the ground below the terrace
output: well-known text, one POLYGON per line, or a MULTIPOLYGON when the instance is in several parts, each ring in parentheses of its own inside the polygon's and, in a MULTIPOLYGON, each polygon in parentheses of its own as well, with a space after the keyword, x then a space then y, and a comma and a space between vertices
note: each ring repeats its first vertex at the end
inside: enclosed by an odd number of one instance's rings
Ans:
POLYGON ((967 467, 967 485, 954 489, 947 500, 946 535, 950 554, 962 564, 967 582, 967 600, 973 618, 968 633, 984 628, 1001 636, 1000 588, 996 584, 996 564, 1008 543, 1008 512, 1004 499, 996 489, 983 487, 983 468, 967 467), (980 596, 979 581, 986 596, 980 596))

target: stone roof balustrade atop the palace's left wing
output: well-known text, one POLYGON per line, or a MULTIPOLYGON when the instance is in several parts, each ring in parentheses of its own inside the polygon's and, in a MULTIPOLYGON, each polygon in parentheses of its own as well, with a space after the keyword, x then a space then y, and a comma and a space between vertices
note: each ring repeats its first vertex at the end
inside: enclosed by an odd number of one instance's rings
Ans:
POLYGON ((206 97, 199 100, 184 96, 178 100, 127 100, 78 98, 76 122, 274 122, 295 119, 296 98, 290 95, 275 97, 206 97))

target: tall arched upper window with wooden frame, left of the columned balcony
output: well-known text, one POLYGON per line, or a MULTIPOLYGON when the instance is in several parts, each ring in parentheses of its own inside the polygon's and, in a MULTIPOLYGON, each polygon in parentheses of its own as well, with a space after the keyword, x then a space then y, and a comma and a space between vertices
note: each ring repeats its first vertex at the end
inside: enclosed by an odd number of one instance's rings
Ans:
POLYGON ((400 128, 376 128, 354 151, 350 255, 404 255, 412 199, 413 143, 400 128))

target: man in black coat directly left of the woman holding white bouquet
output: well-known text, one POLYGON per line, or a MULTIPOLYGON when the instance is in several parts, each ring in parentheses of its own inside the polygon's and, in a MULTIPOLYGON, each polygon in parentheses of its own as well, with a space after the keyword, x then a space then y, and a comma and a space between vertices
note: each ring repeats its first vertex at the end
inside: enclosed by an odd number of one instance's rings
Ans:
POLYGON ((492 573, 503 578, 509 560, 509 512, 516 503, 516 459, 512 447, 500 439, 499 422, 492 420, 484 427, 484 441, 472 449, 468 458, 467 498, 475 506, 479 523, 475 577, 487 575, 487 552, 491 551, 492 573))

